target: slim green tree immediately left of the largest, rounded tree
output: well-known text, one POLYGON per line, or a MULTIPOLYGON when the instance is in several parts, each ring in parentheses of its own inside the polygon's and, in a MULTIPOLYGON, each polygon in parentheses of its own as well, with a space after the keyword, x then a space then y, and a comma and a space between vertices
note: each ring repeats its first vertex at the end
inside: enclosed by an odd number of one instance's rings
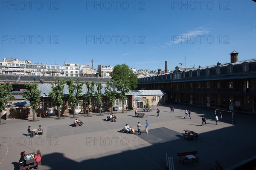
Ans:
POLYGON ((105 95, 111 105, 111 112, 113 113, 113 104, 116 101, 116 86, 114 86, 113 81, 107 81, 107 86, 105 86, 105 95))

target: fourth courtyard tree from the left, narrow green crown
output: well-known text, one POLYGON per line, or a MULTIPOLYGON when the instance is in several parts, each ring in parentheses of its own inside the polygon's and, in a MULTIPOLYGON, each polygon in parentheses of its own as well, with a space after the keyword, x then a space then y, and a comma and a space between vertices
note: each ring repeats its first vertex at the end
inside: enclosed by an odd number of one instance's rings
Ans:
POLYGON ((73 78, 67 80, 67 85, 68 85, 68 92, 69 94, 67 95, 68 101, 71 102, 73 106, 73 117, 75 118, 75 113, 76 113, 76 106, 78 105, 79 102, 79 97, 82 96, 82 87, 83 83, 80 83, 79 80, 76 80, 74 82, 73 78))

